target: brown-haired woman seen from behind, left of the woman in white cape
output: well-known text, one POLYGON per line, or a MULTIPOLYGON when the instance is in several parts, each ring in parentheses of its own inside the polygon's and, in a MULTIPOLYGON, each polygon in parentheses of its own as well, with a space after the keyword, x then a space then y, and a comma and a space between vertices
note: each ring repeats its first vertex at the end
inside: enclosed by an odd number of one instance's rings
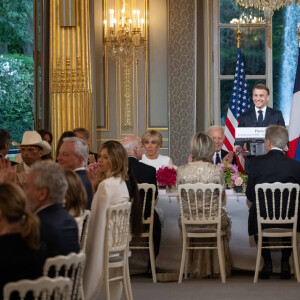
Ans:
POLYGON ((68 190, 65 196, 64 208, 77 222, 80 242, 87 194, 80 177, 74 171, 65 170, 64 172, 68 181, 68 190))

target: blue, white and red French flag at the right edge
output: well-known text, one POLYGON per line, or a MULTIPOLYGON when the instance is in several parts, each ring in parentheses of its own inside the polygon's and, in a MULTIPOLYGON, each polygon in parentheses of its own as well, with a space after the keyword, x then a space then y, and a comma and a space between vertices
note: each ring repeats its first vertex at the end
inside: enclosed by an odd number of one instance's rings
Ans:
POLYGON ((300 48, 295 78, 293 101, 290 113, 289 151, 287 156, 300 161, 300 48))

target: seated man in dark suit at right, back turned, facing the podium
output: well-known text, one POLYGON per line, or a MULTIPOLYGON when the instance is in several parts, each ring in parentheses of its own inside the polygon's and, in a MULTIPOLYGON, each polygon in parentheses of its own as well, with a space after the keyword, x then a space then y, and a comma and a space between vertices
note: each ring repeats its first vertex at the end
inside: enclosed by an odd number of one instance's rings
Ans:
MULTIPOLYGON (((300 184, 300 162, 284 155, 288 143, 288 132, 283 126, 271 125, 266 130, 265 147, 267 154, 250 160, 247 199, 252 203, 249 210, 249 235, 257 234, 257 215, 255 205, 255 185, 258 183, 292 182, 300 184)), ((299 221, 298 221, 299 225, 299 221)), ((299 226, 298 226, 299 229, 299 226)), ((255 236, 257 239, 257 236, 255 236)), ((290 279, 289 258, 291 249, 282 249, 281 279, 290 279)), ((264 266, 259 274, 262 279, 269 279, 272 273, 272 260, 269 249, 262 250, 264 266)))

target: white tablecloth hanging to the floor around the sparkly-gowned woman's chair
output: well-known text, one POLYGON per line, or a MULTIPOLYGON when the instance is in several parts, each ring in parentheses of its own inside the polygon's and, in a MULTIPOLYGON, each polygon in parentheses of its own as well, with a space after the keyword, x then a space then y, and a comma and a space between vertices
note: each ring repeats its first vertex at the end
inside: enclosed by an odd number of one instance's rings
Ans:
MULTIPOLYGON (((250 247, 248 236, 248 206, 246 197, 232 190, 226 191, 226 211, 232 222, 230 251, 232 266, 241 270, 255 270, 256 247, 250 247)), ((179 271, 182 251, 182 234, 178 226, 179 202, 175 194, 159 191, 156 205, 163 214, 163 227, 159 255, 156 259, 158 271, 179 271)), ((281 253, 273 253, 273 270, 280 270, 281 253)), ((262 259, 263 261, 263 259, 262 259)))

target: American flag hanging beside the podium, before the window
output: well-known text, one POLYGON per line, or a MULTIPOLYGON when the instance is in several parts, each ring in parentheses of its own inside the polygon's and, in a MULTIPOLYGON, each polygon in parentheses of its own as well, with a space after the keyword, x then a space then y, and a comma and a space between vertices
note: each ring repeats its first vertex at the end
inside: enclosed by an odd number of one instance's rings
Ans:
MULTIPOLYGON (((238 126, 240 115, 250 108, 248 96, 248 84, 246 80, 245 65, 242 59, 240 48, 237 48, 237 61, 235 66, 235 74, 233 87, 228 105, 227 118, 225 123, 225 139, 223 148, 226 151, 232 151, 235 141, 235 128, 238 126)), ((244 172, 244 158, 239 155, 237 164, 239 170, 244 172)))

